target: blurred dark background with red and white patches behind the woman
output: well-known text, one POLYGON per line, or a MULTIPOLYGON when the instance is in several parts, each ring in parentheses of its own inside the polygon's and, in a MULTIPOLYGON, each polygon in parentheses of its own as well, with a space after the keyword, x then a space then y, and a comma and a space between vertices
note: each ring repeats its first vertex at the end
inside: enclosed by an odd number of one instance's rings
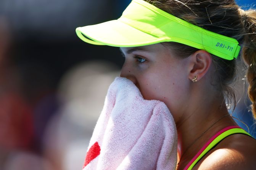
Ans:
MULTIPOLYGON (((117 19, 129 3, 0 0, 0 170, 82 168, 124 59, 119 48, 84 43, 75 29, 117 19)), ((233 116, 256 137, 242 79, 237 86, 245 95, 233 116)))

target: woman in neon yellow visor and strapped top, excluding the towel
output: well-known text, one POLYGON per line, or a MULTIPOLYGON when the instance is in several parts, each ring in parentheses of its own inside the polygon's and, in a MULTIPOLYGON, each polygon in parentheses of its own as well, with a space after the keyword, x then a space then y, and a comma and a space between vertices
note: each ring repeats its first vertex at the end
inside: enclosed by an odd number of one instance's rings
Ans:
POLYGON ((178 132, 177 170, 255 168, 256 140, 236 127, 225 103, 236 104, 229 84, 241 56, 256 118, 255 10, 233 0, 134 0, 118 20, 77 35, 121 47, 121 76, 167 105, 178 132))

